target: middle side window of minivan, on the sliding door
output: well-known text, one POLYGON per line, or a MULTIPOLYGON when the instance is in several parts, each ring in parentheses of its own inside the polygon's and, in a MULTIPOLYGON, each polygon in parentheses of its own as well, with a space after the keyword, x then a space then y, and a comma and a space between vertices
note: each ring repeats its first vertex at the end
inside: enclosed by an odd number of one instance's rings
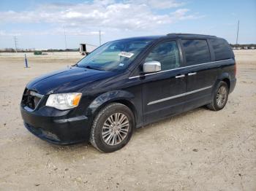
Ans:
POLYGON ((181 40, 187 66, 211 62, 211 54, 206 40, 181 40))

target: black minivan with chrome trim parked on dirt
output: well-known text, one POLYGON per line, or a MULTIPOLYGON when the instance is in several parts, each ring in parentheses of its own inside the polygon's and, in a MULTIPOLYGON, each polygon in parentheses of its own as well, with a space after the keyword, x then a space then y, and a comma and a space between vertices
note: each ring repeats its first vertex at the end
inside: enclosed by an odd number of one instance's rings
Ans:
POLYGON ((55 144, 121 149, 134 128, 199 106, 218 111, 236 85, 225 39, 167 34, 107 42, 74 66, 29 82, 26 128, 55 144))

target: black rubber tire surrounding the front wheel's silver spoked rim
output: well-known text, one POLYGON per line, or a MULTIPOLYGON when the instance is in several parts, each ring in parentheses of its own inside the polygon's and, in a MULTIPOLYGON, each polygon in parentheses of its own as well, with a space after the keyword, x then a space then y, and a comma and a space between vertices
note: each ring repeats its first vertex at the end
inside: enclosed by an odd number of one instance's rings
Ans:
MULTIPOLYGON (((101 152, 114 152, 118 149, 121 149, 129 142, 129 139, 131 139, 134 127, 135 127, 135 119, 129 107, 119 103, 108 104, 103 109, 101 109, 97 114, 97 116, 94 118, 94 122, 91 127, 90 142, 96 149, 98 149, 101 152), (105 122, 107 122, 110 116, 113 116, 113 114, 116 114, 116 113, 124 114, 125 117, 127 117, 127 120, 128 120, 127 124, 129 125, 127 125, 126 127, 127 135, 124 136, 124 139, 121 141, 121 139, 116 138, 116 140, 118 139, 120 142, 115 145, 110 145, 106 143, 106 141, 104 140, 106 138, 103 138, 103 135, 102 135, 102 133, 104 133, 103 125, 105 125, 105 122)), ((112 128, 112 131, 113 131, 113 128, 112 128)), ((119 136, 119 138, 120 137, 121 136, 119 136)))

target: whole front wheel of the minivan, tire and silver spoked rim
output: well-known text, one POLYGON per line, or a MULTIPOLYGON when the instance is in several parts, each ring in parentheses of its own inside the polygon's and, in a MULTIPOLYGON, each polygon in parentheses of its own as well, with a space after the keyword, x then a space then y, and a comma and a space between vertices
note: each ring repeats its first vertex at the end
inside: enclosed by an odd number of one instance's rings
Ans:
POLYGON ((134 126, 134 115, 127 106, 108 104, 94 119, 90 142, 101 152, 114 152, 129 142, 134 126))

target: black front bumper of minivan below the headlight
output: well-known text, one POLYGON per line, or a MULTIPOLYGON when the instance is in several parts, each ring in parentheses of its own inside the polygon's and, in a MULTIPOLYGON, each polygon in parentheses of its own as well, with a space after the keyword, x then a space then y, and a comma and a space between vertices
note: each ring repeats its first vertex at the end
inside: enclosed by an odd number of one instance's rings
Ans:
POLYGON ((44 106, 29 112, 20 106, 25 127, 35 136, 53 144, 89 141, 90 128, 84 115, 69 117, 69 111, 44 106))

